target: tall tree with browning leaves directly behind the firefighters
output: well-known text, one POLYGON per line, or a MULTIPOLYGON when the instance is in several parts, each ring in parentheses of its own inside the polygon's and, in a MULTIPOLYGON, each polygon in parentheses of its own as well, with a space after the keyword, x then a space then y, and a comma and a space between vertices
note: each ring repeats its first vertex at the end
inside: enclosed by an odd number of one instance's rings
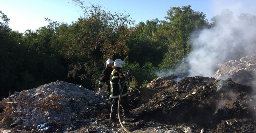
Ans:
POLYGON ((105 11, 100 6, 84 7, 83 1, 74 0, 84 9, 84 17, 72 25, 73 36, 68 45, 68 57, 73 59, 68 75, 80 79, 98 79, 106 59, 127 55, 124 40, 129 34, 129 15, 105 11))

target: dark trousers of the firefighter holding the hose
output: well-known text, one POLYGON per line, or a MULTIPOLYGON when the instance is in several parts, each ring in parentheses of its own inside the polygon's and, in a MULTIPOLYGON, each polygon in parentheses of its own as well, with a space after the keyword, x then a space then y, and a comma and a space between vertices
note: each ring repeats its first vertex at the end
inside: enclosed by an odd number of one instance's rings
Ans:
MULTIPOLYGON (((117 119, 116 114, 117 114, 118 99, 119 98, 110 98, 110 102, 111 102, 110 119, 113 119, 113 120, 117 119)), ((127 96, 123 96, 121 98, 120 104, 122 105, 123 113, 129 112, 129 104, 128 104, 127 96)))

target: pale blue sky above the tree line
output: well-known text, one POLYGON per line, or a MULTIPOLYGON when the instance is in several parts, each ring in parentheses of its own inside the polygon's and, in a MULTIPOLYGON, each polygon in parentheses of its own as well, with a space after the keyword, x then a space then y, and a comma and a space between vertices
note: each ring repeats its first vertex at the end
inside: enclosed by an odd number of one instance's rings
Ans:
MULTIPOLYGON (((191 5, 194 11, 202 11, 208 20, 219 14, 222 9, 229 8, 234 16, 241 13, 256 14, 255 0, 85 0, 99 4, 111 12, 129 13, 138 22, 146 22, 158 18, 164 20, 171 7, 191 5)), ((23 33, 27 29, 35 30, 46 26, 44 18, 53 21, 71 23, 83 13, 71 0, 0 0, 0 10, 11 20, 9 26, 23 33)))

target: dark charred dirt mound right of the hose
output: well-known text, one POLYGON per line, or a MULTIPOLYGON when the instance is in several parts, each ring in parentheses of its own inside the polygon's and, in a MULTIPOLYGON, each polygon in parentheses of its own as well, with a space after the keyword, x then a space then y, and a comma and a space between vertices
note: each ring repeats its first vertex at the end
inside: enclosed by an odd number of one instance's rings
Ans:
POLYGON ((191 125, 211 132, 252 132, 256 128, 254 95, 251 87, 230 78, 186 77, 133 111, 147 121, 191 125))

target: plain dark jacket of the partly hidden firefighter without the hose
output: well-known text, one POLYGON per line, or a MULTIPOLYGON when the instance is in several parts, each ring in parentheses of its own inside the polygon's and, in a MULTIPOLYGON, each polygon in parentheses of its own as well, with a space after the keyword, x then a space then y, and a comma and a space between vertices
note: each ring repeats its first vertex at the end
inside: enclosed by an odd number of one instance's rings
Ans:
POLYGON ((110 74, 111 74, 112 70, 113 70, 113 68, 111 68, 111 67, 107 67, 106 69, 104 69, 100 76, 100 81, 98 84, 99 88, 102 88, 104 83, 107 84, 107 92, 106 92, 107 94, 109 94, 109 90, 110 90, 110 74))

